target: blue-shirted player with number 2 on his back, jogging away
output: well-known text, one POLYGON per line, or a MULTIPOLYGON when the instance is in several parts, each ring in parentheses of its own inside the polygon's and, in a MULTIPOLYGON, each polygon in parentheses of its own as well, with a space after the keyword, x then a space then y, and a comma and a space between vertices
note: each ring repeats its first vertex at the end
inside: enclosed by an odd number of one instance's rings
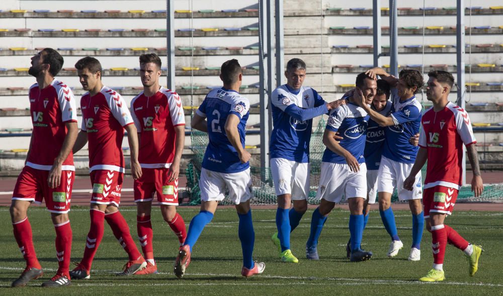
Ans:
POLYGON ((263 262, 253 260, 255 232, 249 205, 252 193, 248 162, 251 155, 244 149, 249 101, 238 93, 242 72, 236 59, 222 64, 220 79, 223 87, 206 95, 191 122, 192 128, 208 133, 209 143, 199 179, 201 211, 192 218, 187 239, 175 261, 175 275, 179 278, 190 263, 192 247, 213 219, 218 202, 225 198, 226 188, 239 217, 238 234, 243 253, 241 275, 248 277, 265 269, 263 262))

